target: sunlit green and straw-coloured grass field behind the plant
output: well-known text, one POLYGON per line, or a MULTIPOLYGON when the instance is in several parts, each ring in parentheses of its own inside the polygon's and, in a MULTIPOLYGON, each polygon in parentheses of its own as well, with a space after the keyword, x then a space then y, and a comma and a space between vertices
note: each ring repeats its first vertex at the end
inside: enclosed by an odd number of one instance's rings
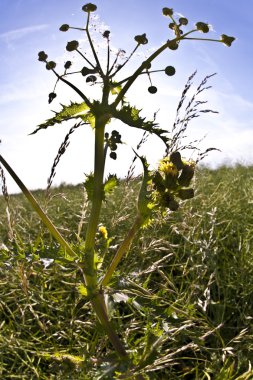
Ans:
MULTIPOLYGON (((133 222, 138 187, 122 182, 104 203, 101 274, 133 222)), ((195 188, 135 239, 108 287, 109 314, 147 379, 252 379, 253 167, 203 167, 195 188)), ((55 188, 47 204, 43 191, 34 195, 81 252, 83 186, 55 188)), ((21 194, 10 196, 8 213, 0 198, 0 247, 2 379, 134 378, 117 376, 124 365, 80 294, 81 271, 56 259, 58 244, 21 194)))

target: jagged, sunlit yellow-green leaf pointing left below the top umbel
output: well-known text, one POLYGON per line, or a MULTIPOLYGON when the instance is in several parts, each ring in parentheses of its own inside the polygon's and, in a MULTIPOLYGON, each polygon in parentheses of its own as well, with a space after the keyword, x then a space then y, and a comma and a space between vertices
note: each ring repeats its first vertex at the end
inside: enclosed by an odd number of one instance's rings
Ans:
POLYGON ((55 116, 45 121, 38 126, 31 135, 37 133, 40 129, 46 129, 55 124, 61 124, 63 121, 70 119, 81 118, 84 122, 88 122, 92 128, 94 128, 95 120, 93 114, 89 112, 89 107, 85 102, 73 103, 71 102, 69 106, 61 105, 62 109, 60 112, 55 112, 55 116))

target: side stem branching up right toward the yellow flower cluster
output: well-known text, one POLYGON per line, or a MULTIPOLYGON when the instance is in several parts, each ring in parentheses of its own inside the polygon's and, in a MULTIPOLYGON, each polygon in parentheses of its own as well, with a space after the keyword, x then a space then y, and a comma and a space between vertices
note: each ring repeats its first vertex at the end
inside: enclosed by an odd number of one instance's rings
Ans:
POLYGON ((132 226, 132 228, 129 230, 128 234, 126 235, 125 239, 121 243, 118 251, 116 252, 110 267, 108 268, 103 280, 101 281, 101 286, 106 286, 108 282, 110 281, 110 278, 112 277, 117 265, 119 264, 120 260, 122 259, 123 255, 129 250, 132 241, 134 239, 134 236, 136 232, 139 230, 141 226, 141 218, 137 217, 135 219, 135 222, 132 226))

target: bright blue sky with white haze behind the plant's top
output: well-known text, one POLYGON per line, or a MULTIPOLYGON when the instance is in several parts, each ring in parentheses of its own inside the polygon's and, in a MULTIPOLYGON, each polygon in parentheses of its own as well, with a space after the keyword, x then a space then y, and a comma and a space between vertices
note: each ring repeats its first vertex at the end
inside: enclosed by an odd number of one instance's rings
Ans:
MULTIPOLYGON (((34 136, 28 134, 52 116, 51 110, 58 110, 59 103, 80 100, 71 90, 59 86, 57 99, 48 104, 48 93, 53 90, 55 79, 38 62, 37 54, 45 50, 59 66, 68 59, 75 59, 73 53, 66 52, 66 42, 78 39, 85 44, 84 37, 75 30, 59 32, 59 27, 63 23, 84 26, 85 14, 81 11, 84 4, 80 0, 0 0, 0 152, 31 189, 46 186, 53 159, 71 125, 57 125, 34 136)), ((171 37, 168 19, 161 13, 163 7, 172 7, 187 17, 191 25, 197 21, 208 22, 213 28, 211 38, 219 38, 222 33, 237 38, 230 48, 217 43, 183 41, 177 51, 164 52, 154 64, 156 69, 173 65, 176 75, 165 78, 163 73, 154 74, 152 80, 158 87, 156 95, 147 92, 149 82, 143 79, 129 92, 128 98, 133 105, 143 108, 143 115, 151 116, 160 109, 161 127, 170 129, 189 75, 198 70, 196 86, 205 75, 216 72, 209 82, 213 87, 205 99, 219 114, 203 115, 193 121, 188 131, 189 139, 206 136, 203 149, 209 146, 221 149, 221 153, 209 155, 207 164, 252 163, 253 2, 241 0, 239 5, 235 0, 99 0, 95 4, 98 6, 98 29, 111 30, 112 47, 129 53, 134 47, 134 36, 147 34, 149 44, 143 47, 130 68, 137 67, 152 48, 171 37)), ((100 52, 102 56, 103 46, 100 52)), ((77 65, 81 68, 79 62, 77 65)), ((82 78, 76 80, 80 83, 82 78)), ((94 89, 89 91, 94 93, 94 89)), ((119 129, 128 145, 121 147, 116 162, 108 160, 107 171, 124 176, 131 163, 131 146, 136 146, 141 135, 122 126, 119 129)), ((55 184, 84 180, 84 173, 92 170, 92 144, 93 132, 89 127, 73 134, 57 169, 55 184)), ((163 154, 159 144, 152 138, 143 147, 142 153, 153 165, 163 154)), ((10 191, 18 191, 9 177, 7 184, 10 191)))

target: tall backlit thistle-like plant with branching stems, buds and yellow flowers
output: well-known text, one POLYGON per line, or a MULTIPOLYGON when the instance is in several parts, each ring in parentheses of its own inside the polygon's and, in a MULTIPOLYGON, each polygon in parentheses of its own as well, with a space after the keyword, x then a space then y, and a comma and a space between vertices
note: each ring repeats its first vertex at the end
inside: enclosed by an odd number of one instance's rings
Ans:
MULTIPOLYGON (((140 76, 146 75, 150 81, 148 91, 151 94, 155 94, 157 88, 152 84, 151 75, 157 70, 152 70, 152 63, 168 49, 173 53, 174 50, 180 47, 181 41, 204 40, 231 46, 235 38, 227 36, 226 34, 222 34, 220 39, 202 37, 201 34, 208 34, 209 32, 209 25, 204 22, 197 22, 193 29, 186 30, 188 19, 185 17, 178 18, 173 12, 173 9, 165 7, 162 9, 162 13, 168 18, 172 37, 150 54, 147 59, 141 62, 132 75, 119 80, 118 74, 122 73, 137 50, 142 45, 148 44, 148 38, 146 33, 135 36, 133 51, 122 63, 120 58, 124 52, 119 50, 115 56, 112 55, 110 31, 104 30, 102 36, 107 44, 107 54, 106 62, 102 63, 90 32, 91 14, 95 12, 96 9, 97 6, 92 3, 85 4, 82 7, 82 11, 86 15, 86 25, 84 28, 72 27, 68 24, 63 24, 60 27, 60 31, 62 32, 67 32, 71 29, 82 32, 89 43, 90 55, 86 55, 86 53, 81 50, 77 40, 72 40, 66 45, 68 52, 75 52, 83 59, 84 66, 81 67, 80 70, 71 72, 72 62, 67 61, 64 65, 63 72, 60 72, 57 70, 56 62, 49 60, 48 55, 44 51, 39 52, 39 61, 44 63, 46 69, 51 71, 57 78, 54 90, 49 94, 49 103, 57 96, 55 91, 56 85, 59 82, 65 83, 66 86, 76 92, 80 96, 81 101, 63 105, 59 112, 56 112, 52 118, 40 124, 33 132, 37 133, 41 129, 46 129, 55 124, 60 124, 63 121, 72 119, 78 120, 78 124, 75 125, 75 128, 88 124, 94 129, 94 172, 87 176, 84 185, 88 199, 91 202, 91 212, 85 233, 84 250, 82 252, 72 248, 68 242, 65 241, 8 163, 3 157, 0 157, 0 160, 18 183, 23 193, 27 196, 51 234, 63 247, 66 258, 75 260, 79 268, 82 269, 84 284, 81 287, 81 291, 90 299, 92 307, 118 355, 121 358, 127 359, 128 355, 124 344, 119 339, 108 317, 104 299, 104 289, 110 283, 123 255, 129 250, 135 234, 150 223, 155 213, 157 211, 166 212, 166 210, 175 211, 179 207, 180 200, 186 200, 194 196, 191 180, 194 176, 196 164, 193 161, 185 161, 182 159, 181 153, 177 148, 176 135, 174 139, 170 139, 168 132, 157 125, 155 118, 154 120, 146 120, 146 118, 142 117, 140 110, 127 101, 127 92, 135 85, 140 76), (87 85, 98 84, 100 96, 95 100, 91 99, 86 85, 83 86, 84 88, 77 87, 71 81, 73 74, 85 77, 87 85), (113 160, 117 159, 116 151, 118 145, 122 142, 121 135, 117 130, 112 130, 110 133, 105 132, 106 126, 109 125, 113 119, 123 122, 128 127, 140 129, 146 134, 156 135, 165 144, 166 154, 160 161, 158 169, 151 171, 149 170, 146 158, 139 156, 137 152, 135 152, 136 157, 141 160, 143 165, 143 178, 138 196, 136 218, 130 230, 126 232, 125 238, 120 244, 109 267, 104 269, 103 277, 98 278, 96 233, 100 230, 104 237, 107 237, 106 228, 99 227, 100 210, 107 192, 111 191, 117 184, 115 176, 109 176, 107 179, 104 178, 105 162, 108 155, 113 160)), ((158 71, 164 72, 167 76, 173 76, 176 72, 173 66, 167 66, 158 71)), ((188 116, 190 117, 190 115, 188 116)), ((187 119, 181 120, 183 125, 186 122, 187 119)))

